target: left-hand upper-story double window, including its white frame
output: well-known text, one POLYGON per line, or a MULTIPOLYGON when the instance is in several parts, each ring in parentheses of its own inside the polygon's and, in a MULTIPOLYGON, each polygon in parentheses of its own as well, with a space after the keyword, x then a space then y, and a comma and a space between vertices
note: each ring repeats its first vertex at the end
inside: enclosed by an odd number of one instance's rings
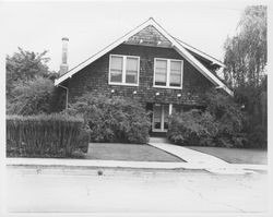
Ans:
POLYGON ((109 59, 109 84, 139 85, 139 57, 110 55, 109 59))

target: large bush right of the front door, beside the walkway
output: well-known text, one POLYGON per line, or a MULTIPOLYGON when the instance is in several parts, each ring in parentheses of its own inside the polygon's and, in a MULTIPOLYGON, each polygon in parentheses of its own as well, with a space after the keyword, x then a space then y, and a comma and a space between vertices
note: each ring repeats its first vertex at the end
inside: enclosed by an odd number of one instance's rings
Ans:
POLYGON ((213 89, 203 99, 204 112, 191 110, 170 118, 169 140, 180 145, 247 147, 244 114, 233 98, 213 89))

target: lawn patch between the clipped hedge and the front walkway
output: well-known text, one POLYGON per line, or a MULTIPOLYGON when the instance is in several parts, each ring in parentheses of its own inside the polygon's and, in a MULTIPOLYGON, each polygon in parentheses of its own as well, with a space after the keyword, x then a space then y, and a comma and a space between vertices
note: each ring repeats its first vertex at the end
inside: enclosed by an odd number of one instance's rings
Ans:
POLYGON ((120 143, 91 143, 85 158, 131 161, 183 161, 171 154, 150 145, 120 143))

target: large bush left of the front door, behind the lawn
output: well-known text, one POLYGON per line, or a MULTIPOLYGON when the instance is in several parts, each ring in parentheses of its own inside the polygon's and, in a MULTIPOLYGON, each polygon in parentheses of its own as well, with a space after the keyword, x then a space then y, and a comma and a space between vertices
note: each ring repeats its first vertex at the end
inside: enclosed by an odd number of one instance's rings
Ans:
POLYGON ((132 100, 86 94, 66 111, 82 116, 91 129, 92 142, 146 143, 150 119, 132 100))

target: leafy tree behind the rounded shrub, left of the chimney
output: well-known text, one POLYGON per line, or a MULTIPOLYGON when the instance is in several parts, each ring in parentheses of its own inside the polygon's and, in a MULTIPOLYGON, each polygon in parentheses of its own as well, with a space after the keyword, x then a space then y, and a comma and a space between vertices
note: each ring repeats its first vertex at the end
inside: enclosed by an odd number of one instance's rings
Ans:
POLYGON ((49 69, 47 62, 50 60, 46 57, 47 51, 41 53, 26 51, 19 47, 19 51, 13 56, 7 56, 7 98, 12 98, 12 89, 17 82, 27 82, 36 76, 48 76, 49 69))

